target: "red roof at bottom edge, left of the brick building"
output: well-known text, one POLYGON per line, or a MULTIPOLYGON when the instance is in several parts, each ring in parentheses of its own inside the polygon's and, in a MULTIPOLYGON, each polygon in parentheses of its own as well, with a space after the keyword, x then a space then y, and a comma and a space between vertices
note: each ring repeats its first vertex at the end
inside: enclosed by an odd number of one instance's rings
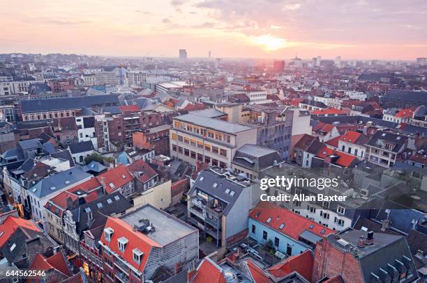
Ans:
POLYGON ((301 254, 293 255, 271 266, 271 268, 269 268, 269 273, 274 277, 281 278, 297 271, 297 273, 310 282, 313 273, 313 261, 313 254, 310 250, 306 250, 301 254))

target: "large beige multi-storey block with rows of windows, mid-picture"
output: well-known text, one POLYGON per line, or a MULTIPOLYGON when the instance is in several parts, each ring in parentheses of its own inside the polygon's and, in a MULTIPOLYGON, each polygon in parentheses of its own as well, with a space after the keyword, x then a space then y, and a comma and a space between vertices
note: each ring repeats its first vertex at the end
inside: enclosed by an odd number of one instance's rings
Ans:
POLYGON ((205 162, 221 168, 231 167, 239 147, 256 143, 254 127, 192 114, 174 117, 170 129, 171 156, 192 165, 205 162))

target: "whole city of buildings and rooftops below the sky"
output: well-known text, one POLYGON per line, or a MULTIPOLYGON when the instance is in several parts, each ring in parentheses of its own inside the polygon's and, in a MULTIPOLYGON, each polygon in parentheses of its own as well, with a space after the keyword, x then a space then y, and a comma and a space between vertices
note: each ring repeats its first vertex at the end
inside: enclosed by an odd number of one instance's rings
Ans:
POLYGON ((427 282, 427 58, 176 48, 0 54, 0 282, 427 282))

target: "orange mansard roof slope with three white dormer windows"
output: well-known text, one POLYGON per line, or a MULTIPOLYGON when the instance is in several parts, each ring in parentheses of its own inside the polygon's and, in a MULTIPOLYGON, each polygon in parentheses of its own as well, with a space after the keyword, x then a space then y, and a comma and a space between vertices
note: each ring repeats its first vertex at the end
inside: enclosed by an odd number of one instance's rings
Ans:
POLYGON ((156 241, 153 241, 151 238, 149 238, 149 236, 142 234, 141 232, 134 231, 132 226, 119 218, 108 217, 107 223, 105 223, 105 228, 107 227, 110 227, 114 231, 111 241, 108 242, 105 240, 105 233, 103 233, 103 236, 101 236, 100 241, 104 245, 107 245, 110 250, 119 254, 119 256, 128 264, 131 264, 141 272, 144 270, 145 264, 147 264, 147 259, 149 258, 151 248, 161 246, 156 243, 156 241), (119 246, 117 244, 117 239, 121 237, 128 239, 128 245, 126 245, 124 252, 119 250, 119 246), (141 252, 144 252, 140 264, 137 264, 133 260, 133 250, 136 248, 141 252))

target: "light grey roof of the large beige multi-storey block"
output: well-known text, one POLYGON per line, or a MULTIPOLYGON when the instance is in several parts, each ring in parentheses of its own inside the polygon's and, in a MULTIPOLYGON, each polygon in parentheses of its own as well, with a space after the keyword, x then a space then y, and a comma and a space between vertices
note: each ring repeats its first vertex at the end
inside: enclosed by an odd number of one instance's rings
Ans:
POLYGON ((248 131, 250 129, 253 129, 252 127, 244 126, 241 124, 234 124, 234 123, 229 123, 222 120, 200 117, 193 114, 176 116, 174 117, 174 119, 196 124, 198 126, 206 127, 216 131, 223 131, 224 133, 227 133, 227 134, 237 134, 241 131, 248 131))

